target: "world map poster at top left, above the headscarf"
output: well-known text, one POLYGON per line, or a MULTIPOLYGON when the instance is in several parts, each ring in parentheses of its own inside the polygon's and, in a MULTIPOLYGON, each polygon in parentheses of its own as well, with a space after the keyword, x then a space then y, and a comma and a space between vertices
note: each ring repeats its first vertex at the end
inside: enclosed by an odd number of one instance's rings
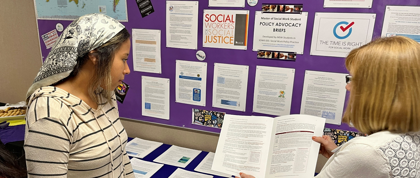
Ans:
POLYGON ((35 0, 38 19, 74 20, 88 13, 101 13, 128 21, 126 0, 35 0))

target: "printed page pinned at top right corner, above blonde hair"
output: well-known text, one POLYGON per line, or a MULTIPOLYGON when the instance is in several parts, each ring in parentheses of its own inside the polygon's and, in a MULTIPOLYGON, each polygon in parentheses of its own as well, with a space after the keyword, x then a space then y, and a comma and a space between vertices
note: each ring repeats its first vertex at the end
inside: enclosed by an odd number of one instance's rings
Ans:
POLYGON ((420 43, 420 7, 387 5, 382 37, 404 36, 420 43))

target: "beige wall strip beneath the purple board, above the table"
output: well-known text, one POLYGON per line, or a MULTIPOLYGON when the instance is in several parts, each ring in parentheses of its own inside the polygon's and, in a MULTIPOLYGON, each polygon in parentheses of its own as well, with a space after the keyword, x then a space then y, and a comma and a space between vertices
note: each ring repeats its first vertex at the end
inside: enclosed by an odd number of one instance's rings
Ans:
MULTIPOLYGON (((219 134, 196 131, 187 128, 165 126, 157 123, 149 123, 140 120, 121 118, 121 123, 129 137, 158 141, 164 144, 176 145, 205 152, 215 152, 219 134)), ((318 155, 315 173, 319 173, 327 162, 327 158, 318 155)))

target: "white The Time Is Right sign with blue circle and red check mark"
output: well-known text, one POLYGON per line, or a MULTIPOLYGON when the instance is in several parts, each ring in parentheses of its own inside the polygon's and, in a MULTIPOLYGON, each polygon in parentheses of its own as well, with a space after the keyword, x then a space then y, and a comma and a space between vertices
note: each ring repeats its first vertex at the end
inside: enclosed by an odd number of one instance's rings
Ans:
POLYGON ((315 13, 310 55, 346 57, 372 40, 375 13, 315 13))

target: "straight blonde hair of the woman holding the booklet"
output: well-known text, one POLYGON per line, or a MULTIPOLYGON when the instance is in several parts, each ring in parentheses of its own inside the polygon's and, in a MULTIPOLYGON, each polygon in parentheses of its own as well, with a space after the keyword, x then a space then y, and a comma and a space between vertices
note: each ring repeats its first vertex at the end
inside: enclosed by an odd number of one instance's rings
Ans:
POLYGON ((343 121, 373 134, 420 131, 420 44, 407 37, 376 39, 346 58, 352 75, 343 121))

